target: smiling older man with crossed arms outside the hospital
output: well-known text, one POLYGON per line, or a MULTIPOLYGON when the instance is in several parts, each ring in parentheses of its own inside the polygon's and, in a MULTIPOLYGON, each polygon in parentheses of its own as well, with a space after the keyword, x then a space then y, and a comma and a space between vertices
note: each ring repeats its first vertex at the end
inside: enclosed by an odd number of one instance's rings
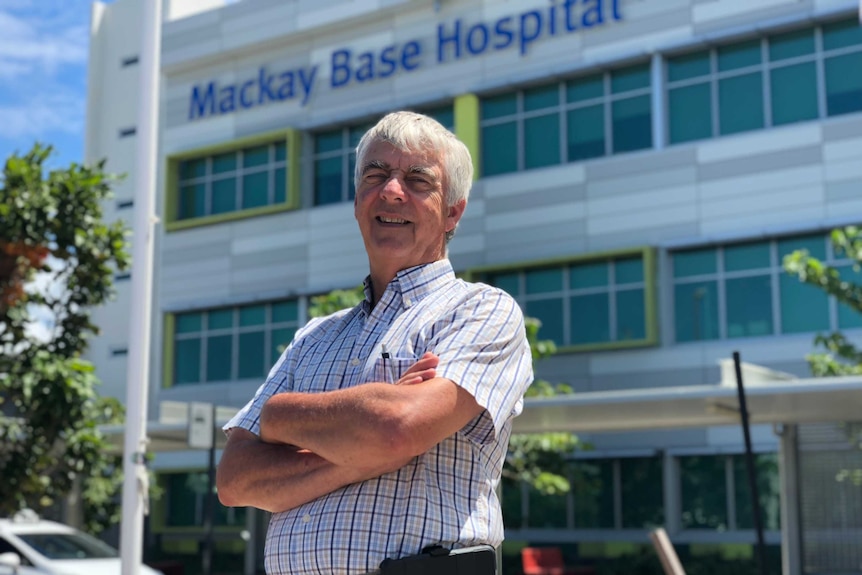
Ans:
POLYGON ((359 142, 366 299, 299 330, 225 426, 219 498, 273 512, 268 573, 502 541, 495 488, 532 364, 514 300, 446 258, 472 178, 427 116, 389 114, 359 142))

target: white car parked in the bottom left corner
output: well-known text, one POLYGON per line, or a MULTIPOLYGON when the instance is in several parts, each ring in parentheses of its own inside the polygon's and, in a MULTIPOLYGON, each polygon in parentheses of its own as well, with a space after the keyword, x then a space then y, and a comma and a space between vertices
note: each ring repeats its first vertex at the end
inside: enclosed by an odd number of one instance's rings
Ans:
MULTIPOLYGON (((119 552, 33 512, 0 519, 0 575, 119 575, 119 552)), ((141 575, 161 575, 146 565, 141 575)))

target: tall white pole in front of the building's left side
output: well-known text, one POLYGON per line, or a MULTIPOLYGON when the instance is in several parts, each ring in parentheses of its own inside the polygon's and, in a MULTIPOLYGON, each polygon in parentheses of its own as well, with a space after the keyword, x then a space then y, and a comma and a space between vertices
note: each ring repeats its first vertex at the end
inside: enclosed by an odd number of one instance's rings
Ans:
POLYGON ((143 563, 144 515, 149 484, 147 396, 152 308, 153 205, 156 195, 159 66, 162 0, 141 0, 140 88, 138 90, 135 216, 132 227, 132 304, 126 374, 126 433, 123 444, 123 508, 120 522, 122 575, 138 575, 143 563))

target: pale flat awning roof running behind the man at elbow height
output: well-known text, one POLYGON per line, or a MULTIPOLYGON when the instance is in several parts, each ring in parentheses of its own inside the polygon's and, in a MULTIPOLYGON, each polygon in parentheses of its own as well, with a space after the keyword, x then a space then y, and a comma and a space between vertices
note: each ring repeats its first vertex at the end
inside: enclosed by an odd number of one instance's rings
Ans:
MULTIPOLYGON (((515 433, 546 431, 610 432, 709 427, 739 424, 740 411, 733 362, 721 362, 714 385, 582 392, 528 398, 515 418, 515 433)), ((806 423, 862 419, 862 376, 796 378, 757 365, 742 364, 749 422, 806 423)), ((189 449, 188 404, 162 402, 158 421, 147 424, 152 452, 189 449)), ((224 446, 221 427, 234 407, 217 407, 216 447, 224 446)), ((104 428, 117 450, 123 427, 104 428)))

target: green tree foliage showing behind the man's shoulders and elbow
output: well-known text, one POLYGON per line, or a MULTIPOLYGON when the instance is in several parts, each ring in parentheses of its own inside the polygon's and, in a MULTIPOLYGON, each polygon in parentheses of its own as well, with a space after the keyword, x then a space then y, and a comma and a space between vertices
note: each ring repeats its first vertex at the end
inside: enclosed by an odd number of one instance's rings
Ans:
MULTIPOLYGON (((353 307, 364 297, 362 286, 315 296, 311 298, 309 315, 321 317, 353 307)), ((524 324, 533 361, 556 353, 553 341, 539 339, 542 325, 539 320, 525 318, 524 324)), ((567 385, 536 380, 530 385, 526 396, 546 397, 571 391, 567 385)), ((545 495, 566 493, 571 488, 566 469, 567 459, 579 445, 578 438, 571 433, 514 434, 509 439, 509 451, 503 464, 503 480, 510 485, 524 481, 545 495)))

